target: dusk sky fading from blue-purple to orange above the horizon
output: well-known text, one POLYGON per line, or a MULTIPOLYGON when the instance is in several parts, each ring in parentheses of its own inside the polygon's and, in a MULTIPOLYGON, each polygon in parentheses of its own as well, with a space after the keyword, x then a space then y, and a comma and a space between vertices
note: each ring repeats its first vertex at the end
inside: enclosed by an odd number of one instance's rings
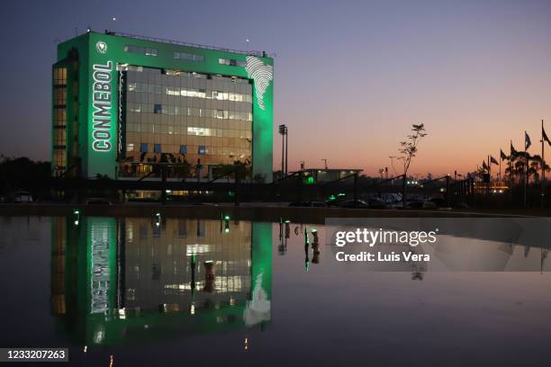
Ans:
POLYGON ((375 175, 412 123, 429 132, 411 165, 419 175, 472 171, 510 139, 522 149, 524 130, 539 154, 541 119, 551 135, 548 1, 37 0, 2 4, 2 18, 8 156, 50 159, 56 44, 88 25, 276 53, 275 123, 289 128, 292 170, 327 158, 375 175))

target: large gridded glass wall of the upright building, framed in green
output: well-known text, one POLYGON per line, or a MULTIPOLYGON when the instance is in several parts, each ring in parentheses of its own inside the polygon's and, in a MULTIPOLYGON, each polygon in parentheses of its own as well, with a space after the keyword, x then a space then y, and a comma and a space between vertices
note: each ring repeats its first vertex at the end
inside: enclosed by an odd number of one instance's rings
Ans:
POLYGON ((157 157, 167 153, 180 159, 191 154, 193 161, 200 157, 205 171, 210 166, 230 165, 235 159, 250 164, 253 86, 247 80, 236 85, 240 78, 213 75, 205 83, 191 79, 203 74, 151 67, 144 67, 142 72, 129 67, 127 76, 128 89, 133 89, 125 106, 124 148, 133 144, 133 151, 127 153, 129 162, 147 162, 150 158, 145 155, 155 152, 157 157), (206 98, 211 103, 206 103, 206 98))

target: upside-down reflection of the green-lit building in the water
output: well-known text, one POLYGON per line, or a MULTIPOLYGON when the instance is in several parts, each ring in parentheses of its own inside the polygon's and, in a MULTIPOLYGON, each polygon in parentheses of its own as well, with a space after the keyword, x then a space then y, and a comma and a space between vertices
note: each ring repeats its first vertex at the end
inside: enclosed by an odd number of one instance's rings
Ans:
POLYGON ((51 310, 82 345, 265 327, 271 251, 270 223, 55 218, 51 310))

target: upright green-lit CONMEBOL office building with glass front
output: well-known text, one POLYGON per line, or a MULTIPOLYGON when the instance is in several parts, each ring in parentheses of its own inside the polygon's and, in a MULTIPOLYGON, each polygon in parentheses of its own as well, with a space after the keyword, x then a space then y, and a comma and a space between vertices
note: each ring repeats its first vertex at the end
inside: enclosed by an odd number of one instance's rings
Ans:
POLYGON ((52 175, 271 180, 273 59, 113 32, 58 46, 52 175), (222 171, 223 172, 223 171, 222 171))

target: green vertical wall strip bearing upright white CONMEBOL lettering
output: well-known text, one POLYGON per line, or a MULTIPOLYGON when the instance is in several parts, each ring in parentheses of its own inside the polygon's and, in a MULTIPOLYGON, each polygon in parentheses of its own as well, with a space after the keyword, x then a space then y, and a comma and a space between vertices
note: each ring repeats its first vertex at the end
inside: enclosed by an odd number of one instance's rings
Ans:
POLYGON ((115 54, 106 40, 91 42, 88 84, 88 155, 89 177, 107 175, 115 178, 117 159, 118 88, 115 54))

